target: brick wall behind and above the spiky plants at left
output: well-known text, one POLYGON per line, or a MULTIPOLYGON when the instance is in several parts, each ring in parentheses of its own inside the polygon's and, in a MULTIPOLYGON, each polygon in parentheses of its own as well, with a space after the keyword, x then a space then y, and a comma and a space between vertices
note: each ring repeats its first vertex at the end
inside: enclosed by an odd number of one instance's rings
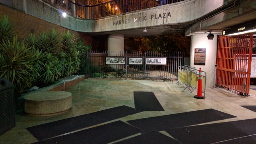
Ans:
MULTIPOLYGON (((12 21, 16 26, 17 37, 19 40, 23 40, 28 37, 30 33, 38 34, 43 33, 44 31, 52 31, 52 29, 61 33, 68 30, 59 25, 25 14, 22 11, 13 9, 4 4, 0 4, 0 17, 3 18, 4 15, 7 15, 9 21, 12 21)), ((92 37, 90 35, 72 30, 71 32, 74 33, 76 38, 83 39, 84 44, 92 45, 92 37)))

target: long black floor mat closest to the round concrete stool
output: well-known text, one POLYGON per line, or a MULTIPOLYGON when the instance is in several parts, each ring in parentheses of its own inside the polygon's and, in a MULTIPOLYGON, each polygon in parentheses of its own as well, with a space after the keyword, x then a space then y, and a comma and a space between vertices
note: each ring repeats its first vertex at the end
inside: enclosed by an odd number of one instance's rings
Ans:
POLYGON ((111 109, 93 112, 91 114, 71 117, 68 119, 53 121, 27 128, 38 140, 52 138, 53 136, 69 133, 71 131, 93 126, 106 121, 118 119, 127 115, 136 114, 140 111, 128 106, 118 106, 111 109))

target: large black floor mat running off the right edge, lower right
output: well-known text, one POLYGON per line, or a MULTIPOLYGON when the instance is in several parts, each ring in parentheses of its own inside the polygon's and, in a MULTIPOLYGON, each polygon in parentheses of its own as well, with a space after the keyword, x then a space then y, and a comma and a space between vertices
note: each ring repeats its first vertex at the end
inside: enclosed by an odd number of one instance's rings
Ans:
MULTIPOLYGON (((256 134, 255 124, 256 119, 249 119, 187 126, 183 128, 166 129, 165 131, 182 144, 209 144, 256 134)), ((244 139, 244 141, 246 140, 244 139)), ((256 141, 250 141, 250 143, 256 143, 256 141)))

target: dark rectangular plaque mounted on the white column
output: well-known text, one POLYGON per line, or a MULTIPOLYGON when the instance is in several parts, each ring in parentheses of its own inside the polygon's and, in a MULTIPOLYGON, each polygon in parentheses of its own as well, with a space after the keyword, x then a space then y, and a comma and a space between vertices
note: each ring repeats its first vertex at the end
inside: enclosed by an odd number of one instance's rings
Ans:
POLYGON ((206 48, 195 48, 194 65, 204 65, 206 60, 206 48))

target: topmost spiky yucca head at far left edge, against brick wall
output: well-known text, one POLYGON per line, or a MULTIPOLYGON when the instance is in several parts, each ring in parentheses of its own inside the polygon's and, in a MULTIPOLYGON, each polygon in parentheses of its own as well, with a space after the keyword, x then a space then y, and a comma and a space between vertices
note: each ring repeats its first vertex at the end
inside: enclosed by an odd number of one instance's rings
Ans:
POLYGON ((8 16, 0 17, 0 42, 7 39, 12 40, 16 34, 15 30, 14 24, 8 20, 8 16))

